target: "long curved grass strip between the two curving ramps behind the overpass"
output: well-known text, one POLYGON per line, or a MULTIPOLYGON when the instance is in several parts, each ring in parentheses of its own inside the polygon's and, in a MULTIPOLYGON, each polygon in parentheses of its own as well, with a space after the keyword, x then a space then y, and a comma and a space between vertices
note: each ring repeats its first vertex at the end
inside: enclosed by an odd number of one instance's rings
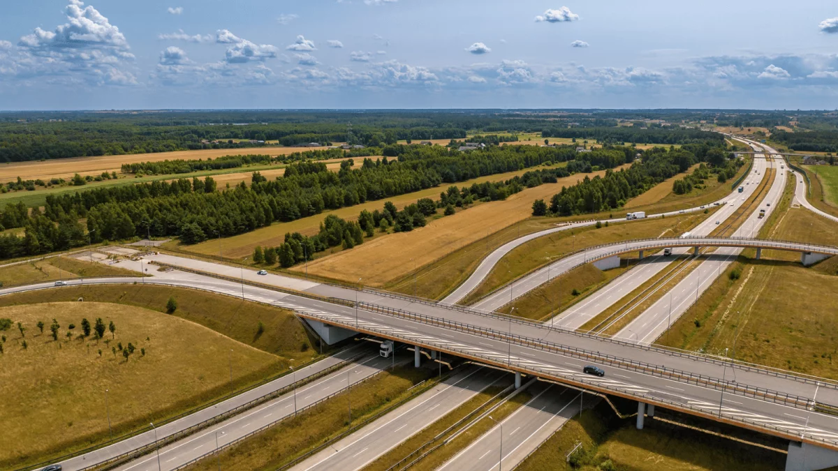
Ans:
POLYGON ((615 220, 615 224, 590 225, 583 228, 562 230, 551 235, 539 237, 515 247, 492 267, 489 275, 472 292, 463 298, 462 303, 474 303, 520 277, 535 272, 561 257, 568 256, 592 246, 656 237, 662 233, 678 236, 695 226, 707 215, 699 213, 651 218, 626 222, 615 220))

